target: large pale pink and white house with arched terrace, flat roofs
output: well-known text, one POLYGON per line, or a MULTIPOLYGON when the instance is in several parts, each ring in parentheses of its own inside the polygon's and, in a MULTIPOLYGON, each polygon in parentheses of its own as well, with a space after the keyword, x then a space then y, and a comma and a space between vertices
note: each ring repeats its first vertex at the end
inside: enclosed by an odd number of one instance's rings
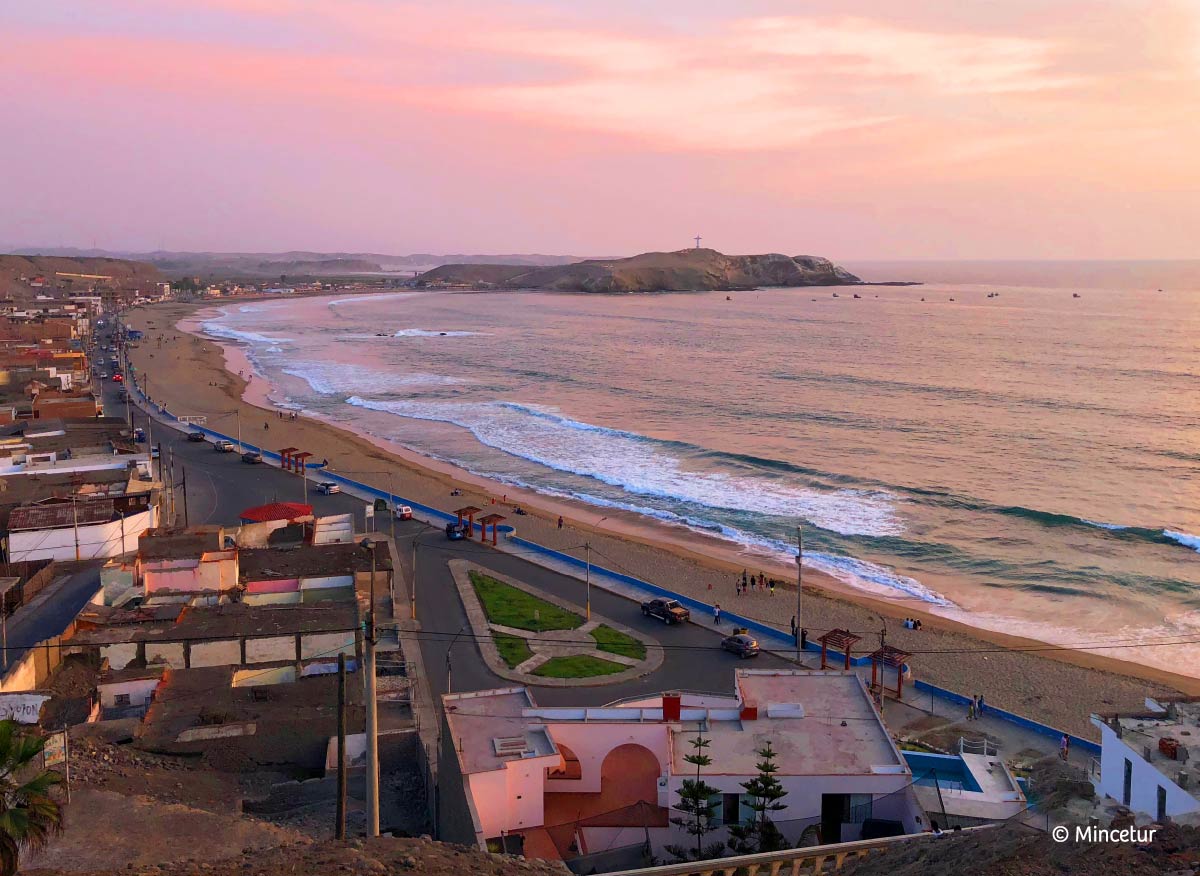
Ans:
MULTIPOLYGON (((772 821, 791 844, 917 833, 912 773, 854 673, 736 673, 731 696, 678 695, 602 708, 539 707, 524 688, 448 695, 442 829, 452 841, 506 841, 527 857, 575 858, 694 841, 671 824, 697 736, 718 790, 704 842, 750 816, 742 782, 768 743, 787 791, 772 821), (461 794, 457 793, 461 776, 461 794)), ((610 860, 608 864, 613 864, 610 860)), ((629 865, 629 859, 622 862, 629 865)), ((601 866, 600 869, 605 869, 601 866)))

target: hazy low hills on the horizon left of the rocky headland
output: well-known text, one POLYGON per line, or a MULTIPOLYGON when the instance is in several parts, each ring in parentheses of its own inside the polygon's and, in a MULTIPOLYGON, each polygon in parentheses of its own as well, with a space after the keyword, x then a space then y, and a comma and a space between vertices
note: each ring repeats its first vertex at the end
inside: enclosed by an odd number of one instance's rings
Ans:
MULTIPOLYGON (((31 251, 30 251, 31 252, 31 251)), ((545 256, 518 253, 505 256, 472 256, 455 253, 436 256, 419 252, 409 256, 389 256, 377 252, 107 252, 103 250, 77 250, 71 247, 47 248, 42 254, 67 258, 119 257, 137 259, 157 265, 170 277, 198 276, 215 280, 311 276, 329 277, 347 274, 386 274, 424 271, 437 265, 454 264, 506 264, 506 265, 562 265, 578 262, 577 256, 545 256)))

